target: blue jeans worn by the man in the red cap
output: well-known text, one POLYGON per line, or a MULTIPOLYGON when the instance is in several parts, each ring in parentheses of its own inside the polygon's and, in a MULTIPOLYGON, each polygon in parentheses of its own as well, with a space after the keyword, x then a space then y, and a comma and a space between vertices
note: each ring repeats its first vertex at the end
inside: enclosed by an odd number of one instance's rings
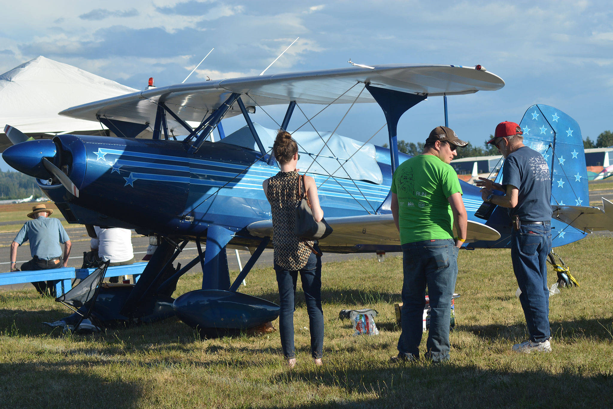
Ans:
POLYGON ((522 293, 522 303, 530 340, 549 339, 549 289, 547 288, 547 254, 551 250, 551 226, 522 224, 511 237, 511 260, 522 293))

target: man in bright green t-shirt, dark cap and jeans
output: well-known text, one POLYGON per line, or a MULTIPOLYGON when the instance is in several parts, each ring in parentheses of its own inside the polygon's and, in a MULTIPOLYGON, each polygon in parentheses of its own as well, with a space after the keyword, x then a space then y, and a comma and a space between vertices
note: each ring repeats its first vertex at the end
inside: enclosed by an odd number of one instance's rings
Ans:
POLYGON ((403 251, 402 334, 392 361, 419 359, 425 288, 430 302, 430 330, 425 357, 449 359, 451 297, 457 278, 458 250, 466 240, 468 216, 454 168, 460 140, 446 126, 437 126, 421 155, 408 159, 392 178, 392 215, 403 251), (457 237, 454 239, 453 226, 457 237))

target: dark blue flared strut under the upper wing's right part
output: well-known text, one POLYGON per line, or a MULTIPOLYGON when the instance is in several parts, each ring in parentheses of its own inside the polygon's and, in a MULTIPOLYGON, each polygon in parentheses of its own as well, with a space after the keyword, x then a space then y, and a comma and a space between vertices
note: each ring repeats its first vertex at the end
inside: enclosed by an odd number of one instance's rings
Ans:
POLYGON ((387 120, 387 132, 389 134, 389 152, 392 161, 392 173, 398 167, 398 120, 402 114, 413 108, 419 102, 428 97, 427 94, 408 94, 400 91, 387 90, 377 86, 366 85, 366 89, 375 98, 379 107, 383 109, 387 120))

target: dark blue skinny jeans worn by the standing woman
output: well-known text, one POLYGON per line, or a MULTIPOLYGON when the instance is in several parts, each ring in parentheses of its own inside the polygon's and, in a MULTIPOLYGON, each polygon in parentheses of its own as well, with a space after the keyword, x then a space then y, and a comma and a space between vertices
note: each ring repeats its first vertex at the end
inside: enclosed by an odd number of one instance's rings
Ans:
POLYGON ((275 264, 276 282, 279 285, 281 310, 279 313, 279 334, 283 355, 287 359, 296 356, 294 349, 294 311, 296 281, 300 272, 302 289, 307 302, 309 331, 311 333, 311 356, 321 358, 324 348, 324 312, 321 309, 321 258, 314 253, 307 265, 300 270, 284 270, 275 264))

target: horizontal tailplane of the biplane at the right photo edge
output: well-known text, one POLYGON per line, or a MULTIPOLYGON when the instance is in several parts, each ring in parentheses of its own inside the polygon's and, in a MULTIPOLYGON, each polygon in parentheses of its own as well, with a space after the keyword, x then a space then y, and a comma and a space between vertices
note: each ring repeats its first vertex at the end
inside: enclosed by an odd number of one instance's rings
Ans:
POLYGON ((613 231, 613 203, 603 199, 598 207, 554 205, 554 217, 584 232, 613 231))

